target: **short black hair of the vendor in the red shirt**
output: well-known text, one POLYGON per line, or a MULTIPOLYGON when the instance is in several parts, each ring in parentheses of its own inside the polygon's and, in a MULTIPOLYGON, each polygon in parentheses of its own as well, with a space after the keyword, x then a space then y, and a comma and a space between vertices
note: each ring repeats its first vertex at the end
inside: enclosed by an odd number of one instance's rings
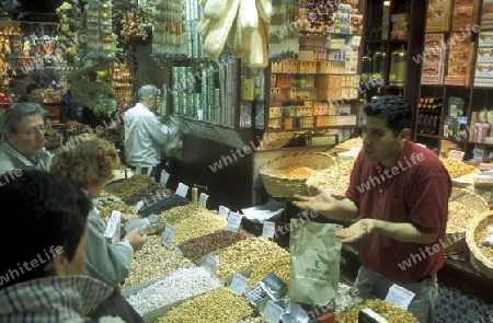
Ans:
POLYGON ((404 128, 411 128, 412 112, 409 104, 400 96, 383 95, 363 106, 363 112, 370 117, 388 120, 388 127, 397 136, 404 128))

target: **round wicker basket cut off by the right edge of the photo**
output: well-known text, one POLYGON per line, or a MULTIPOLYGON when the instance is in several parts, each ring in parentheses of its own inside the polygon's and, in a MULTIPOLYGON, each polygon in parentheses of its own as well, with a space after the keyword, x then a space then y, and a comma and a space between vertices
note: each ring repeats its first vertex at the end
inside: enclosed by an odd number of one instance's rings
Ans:
POLYGON ((484 276, 493 278, 493 247, 482 245, 482 239, 484 239, 483 235, 489 224, 493 224, 492 211, 483 212, 469 223, 466 241, 471 250, 471 266, 484 276))

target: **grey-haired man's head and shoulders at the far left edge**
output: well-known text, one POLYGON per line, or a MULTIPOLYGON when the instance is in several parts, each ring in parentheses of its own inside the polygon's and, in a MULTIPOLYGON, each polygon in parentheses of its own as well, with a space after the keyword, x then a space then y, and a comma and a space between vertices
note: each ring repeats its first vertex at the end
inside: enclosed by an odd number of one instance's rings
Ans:
POLYGON ((14 103, 0 118, 0 173, 9 170, 48 171, 51 153, 45 150, 45 122, 41 105, 14 103))

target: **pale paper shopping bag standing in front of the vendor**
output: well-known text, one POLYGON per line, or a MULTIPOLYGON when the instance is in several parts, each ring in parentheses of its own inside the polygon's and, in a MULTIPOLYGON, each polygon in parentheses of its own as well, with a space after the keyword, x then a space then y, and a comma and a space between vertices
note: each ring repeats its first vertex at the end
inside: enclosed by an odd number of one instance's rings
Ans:
POLYGON ((334 237, 340 224, 291 219, 288 296, 305 304, 324 305, 339 288, 341 240, 334 237))

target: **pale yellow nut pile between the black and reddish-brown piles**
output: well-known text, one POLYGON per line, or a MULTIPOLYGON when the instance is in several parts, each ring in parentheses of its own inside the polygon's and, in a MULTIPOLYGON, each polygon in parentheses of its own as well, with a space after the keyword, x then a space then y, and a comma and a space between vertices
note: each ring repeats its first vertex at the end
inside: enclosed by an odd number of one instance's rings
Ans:
POLYGON ((179 244, 204 234, 213 233, 226 228, 226 220, 210 211, 203 211, 177 223, 173 243, 179 244))

